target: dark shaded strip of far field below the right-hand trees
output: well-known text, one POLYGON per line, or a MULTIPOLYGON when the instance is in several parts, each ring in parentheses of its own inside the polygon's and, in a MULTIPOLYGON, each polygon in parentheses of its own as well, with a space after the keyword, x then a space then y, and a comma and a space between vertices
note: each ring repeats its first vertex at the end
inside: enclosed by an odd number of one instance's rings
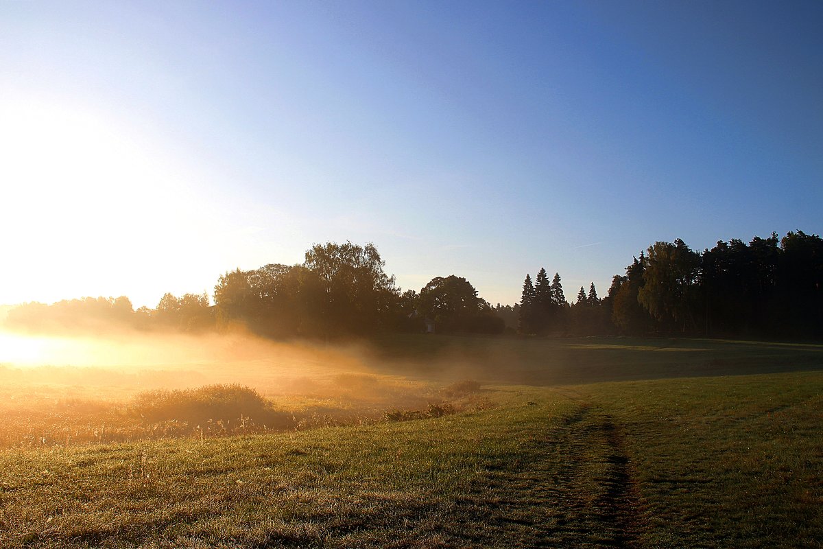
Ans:
POLYGON ((823 370, 823 346, 639 337, 398 336, 376 342, 368 362, 393 374, 545 386, 823 370))

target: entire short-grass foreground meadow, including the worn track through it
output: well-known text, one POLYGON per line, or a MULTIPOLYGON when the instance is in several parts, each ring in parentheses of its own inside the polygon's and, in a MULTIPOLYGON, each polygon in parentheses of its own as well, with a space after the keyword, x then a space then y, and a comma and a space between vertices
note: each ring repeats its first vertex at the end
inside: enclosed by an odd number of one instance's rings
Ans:
POLYGON ((2 547, 814 547, 823 375, 497 387, 493 409, 0 454, 2 547))

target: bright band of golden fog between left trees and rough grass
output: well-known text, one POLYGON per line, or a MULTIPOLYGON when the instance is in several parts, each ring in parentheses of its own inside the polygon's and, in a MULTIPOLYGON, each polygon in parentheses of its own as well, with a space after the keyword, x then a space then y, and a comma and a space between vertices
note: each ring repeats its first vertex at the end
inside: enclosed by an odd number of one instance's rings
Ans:
POLYGON ((367 375, 356 346, 272 342, 249 333, 0 333, 0 364, 31 384, 63 384, 101 398, 149 388, 243 384, 266 395, 339 394, 342 375, 367 375))

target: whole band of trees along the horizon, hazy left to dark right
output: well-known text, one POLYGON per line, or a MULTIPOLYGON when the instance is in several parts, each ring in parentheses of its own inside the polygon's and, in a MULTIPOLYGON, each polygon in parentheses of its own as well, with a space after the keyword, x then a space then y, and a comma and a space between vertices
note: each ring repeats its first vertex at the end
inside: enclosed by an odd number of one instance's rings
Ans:
POLYGON ((823 339, 823 240, 802 230, 718 241, 695 252, 655 242, 574 302, 556 273, 527 274, 515 305, 490 305, 466 278, 435 277, 402 291, 374 244, 315 244, 304 263, 272 263, 219 277, 213 295, 165 294, 155 309, 126 297, 27 303, 8 328, 30 332, 110 329, 202 332, 242 326, 263 337, 370 337, 380 333, 518 333, 523 336, 680 335, 823 339))

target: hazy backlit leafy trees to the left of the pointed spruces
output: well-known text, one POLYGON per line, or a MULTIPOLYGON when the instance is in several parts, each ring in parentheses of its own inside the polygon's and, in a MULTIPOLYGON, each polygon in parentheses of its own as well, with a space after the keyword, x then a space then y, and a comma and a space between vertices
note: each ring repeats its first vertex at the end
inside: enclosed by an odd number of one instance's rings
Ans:
POLYGON ((368 337, 386 332, 501 333, 504 321, 463 277, 402 291, 374 244, 315 244, 297 265, 226 272, 206 294, 163 295, 155 309, 126 297, 28 303, 6 325, 34 332, 134 328, 200 332, 242 326, 264 337, 368 337))

